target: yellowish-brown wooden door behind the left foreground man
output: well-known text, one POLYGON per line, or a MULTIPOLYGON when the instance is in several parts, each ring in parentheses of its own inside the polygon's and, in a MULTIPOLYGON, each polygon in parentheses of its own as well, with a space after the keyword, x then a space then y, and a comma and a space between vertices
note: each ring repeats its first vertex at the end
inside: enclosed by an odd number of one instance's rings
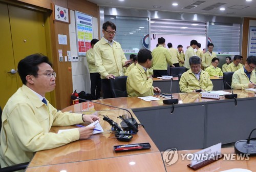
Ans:
MULTIPOLYGON (((6 80, 6 83, 0 84, 0 105, 3 107, 22 86, 19 75, 8 72, 16 70, 18 62, 28 55, 42 53, 47 56, 47 45, 44 13, 7 4, 0 4, 0 8, 1 23, 5 21, 5 24, 1 24, 4 28, 0 27, 0 36, 5 38, 0 43, 0 52, 4 52, 1 55, 1 68, 4 71, 1 70, 0 77, 2 81, 6 80)), ((51 102, 50 93, 46 98, 51 102)))

